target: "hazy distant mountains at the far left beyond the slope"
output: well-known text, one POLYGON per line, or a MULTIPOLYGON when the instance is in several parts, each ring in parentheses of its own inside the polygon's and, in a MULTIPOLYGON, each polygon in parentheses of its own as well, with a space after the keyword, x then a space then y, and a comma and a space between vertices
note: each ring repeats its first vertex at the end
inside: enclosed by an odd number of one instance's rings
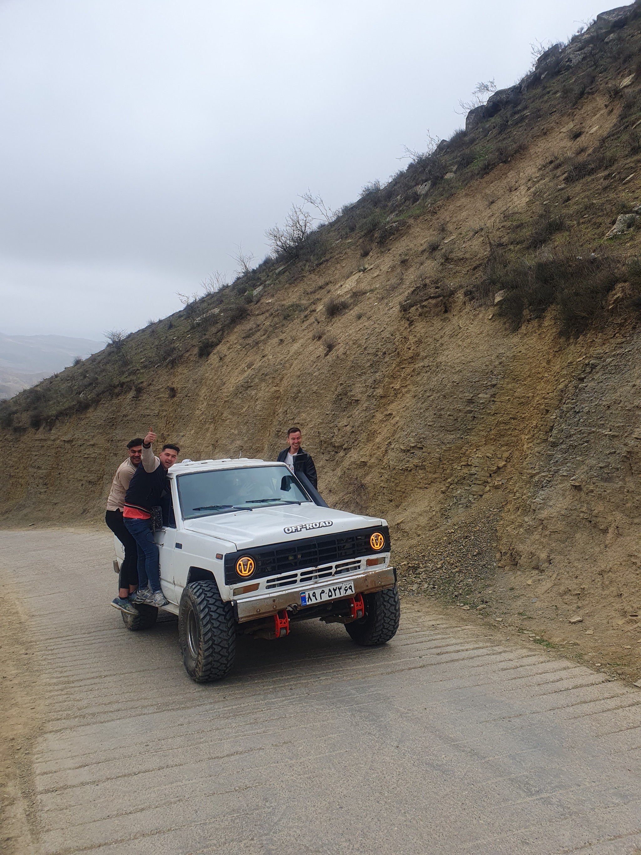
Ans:
POLYGON ((38 380, 67 368, 75 357, 85 359, 103 347, 103 341, 65 335, 0 333, 0 398, 11 398, 38 380))

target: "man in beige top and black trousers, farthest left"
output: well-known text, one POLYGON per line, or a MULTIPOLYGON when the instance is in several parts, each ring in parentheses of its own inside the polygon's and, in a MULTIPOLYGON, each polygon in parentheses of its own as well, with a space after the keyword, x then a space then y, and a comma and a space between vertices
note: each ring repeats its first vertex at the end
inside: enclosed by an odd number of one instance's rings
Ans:
POLYGON ((122 510, 125 506, 125 493, 129 489, 129 482, 140 465, 143 440, 140 437, 132 439, 126 444, 126 447, 129 451, 129 457, 116 469, 107 499, 107 512, 104 515, 104 522, 107 523, 125 549, 125 560, 121 564, 121 574, 118 581, 120 590, 111 604, 116 609, 137 615, 138 609, 132 604, 131 595, 138 588, 138 547, 122 520, 122 510))

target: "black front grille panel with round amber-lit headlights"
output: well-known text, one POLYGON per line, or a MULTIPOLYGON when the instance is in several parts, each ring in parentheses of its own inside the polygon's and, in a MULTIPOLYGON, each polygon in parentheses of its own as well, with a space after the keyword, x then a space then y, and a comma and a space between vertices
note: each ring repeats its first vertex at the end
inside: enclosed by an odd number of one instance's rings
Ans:
MULTIPOLYGON (((348 573, 350 572, 348 565, 354 562, 356 558, 389 551, 390 533, 386 526, 358 528, 356 531, 341 532, 340 534, 324 534, 321 537, 289 540, 285 543, 227 553, 225 556, 225 581, 227 585, 238 584, 241 577, 236 573, 236 562, 239 557, 244 555, 252 557, 256 563, 256 570, 248 578, 282 577, 283 585, 291 585, 294 582, 285 581, 285 576, 297 575, 300 570, 316 573, 327 570, 331 571, 329 575, 335 575, 337 572, 348 573), (374 532, 380 532, 385 536, 383 549, 374 550, 370 545, 369 538, 374 532)), ((280 586, 277 580, 270 580, 270 587, 280 586), (273 585, 272 582, 274 582, 273 585)))

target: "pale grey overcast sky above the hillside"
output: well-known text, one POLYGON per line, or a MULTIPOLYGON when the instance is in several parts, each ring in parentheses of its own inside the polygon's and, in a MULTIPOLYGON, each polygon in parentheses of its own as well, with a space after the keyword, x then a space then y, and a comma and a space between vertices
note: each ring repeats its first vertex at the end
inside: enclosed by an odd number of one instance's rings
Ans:
POLYGON ((298 193, 353 201, 615 5, 0 0, 0 331, 168 315, 298 193))

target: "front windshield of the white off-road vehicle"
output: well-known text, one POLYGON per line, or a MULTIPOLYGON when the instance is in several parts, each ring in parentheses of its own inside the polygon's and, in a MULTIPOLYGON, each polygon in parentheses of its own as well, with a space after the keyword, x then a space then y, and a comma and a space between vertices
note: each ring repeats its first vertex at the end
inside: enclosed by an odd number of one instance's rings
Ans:
POLYGON ((176 481, 184 520, 311 502, 286 466, 190 472, 179 475, 176 481))

